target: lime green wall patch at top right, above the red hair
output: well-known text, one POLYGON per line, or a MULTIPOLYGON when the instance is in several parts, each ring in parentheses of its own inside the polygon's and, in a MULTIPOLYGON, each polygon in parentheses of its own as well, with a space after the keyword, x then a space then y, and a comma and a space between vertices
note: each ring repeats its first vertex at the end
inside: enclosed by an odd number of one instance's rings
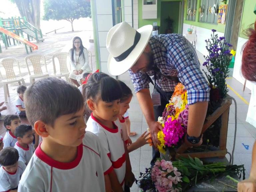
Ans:
POLYGON ((256 15, 253 13, 255 5, 256 5, 255 0, 244 0, 244 8, 243 8, 239 37, 248 39, 248 37, 244 34, 244 32, 256 20, 256 15))

